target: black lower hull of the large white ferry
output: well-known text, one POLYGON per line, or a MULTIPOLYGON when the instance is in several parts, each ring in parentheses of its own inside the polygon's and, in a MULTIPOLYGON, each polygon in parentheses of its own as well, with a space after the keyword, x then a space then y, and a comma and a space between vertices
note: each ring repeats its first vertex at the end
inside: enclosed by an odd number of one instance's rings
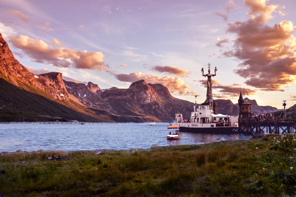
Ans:
POLYGON ((212 133, 212 134, 228 134, 234 133, 236 127, 179 127, 181 132, 190 133, 212 133))

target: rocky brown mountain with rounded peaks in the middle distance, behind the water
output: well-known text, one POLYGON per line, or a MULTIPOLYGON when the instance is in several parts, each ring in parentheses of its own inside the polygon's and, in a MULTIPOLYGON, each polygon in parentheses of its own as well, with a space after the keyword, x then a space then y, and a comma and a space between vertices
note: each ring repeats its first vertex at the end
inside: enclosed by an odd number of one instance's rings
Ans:
MULTIPOLYGON (((161 84, 147 84, 139 80, 127 89, 109 88, 100 89, 93 84, 90 92, 89 84, 67 82, 64 80, 67 91, 76 98, 81 99, 94 109, 102 109, 117 115, 145 116, 158 121, 171 121, 176 113, 189 115, 193 110, 193 103, 173 97, 169 90, 161 84)), ((188 117, 189 118, 189 117, 188 117)))

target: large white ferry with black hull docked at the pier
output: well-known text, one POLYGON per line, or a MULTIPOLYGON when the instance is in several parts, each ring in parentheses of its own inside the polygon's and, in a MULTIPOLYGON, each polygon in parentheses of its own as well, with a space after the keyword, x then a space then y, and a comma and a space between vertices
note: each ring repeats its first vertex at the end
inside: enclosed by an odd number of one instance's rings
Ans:
POLYGON ((175 114, 175 125, 181 132, 191 133, 234 133, 238 116, 215 115, 212 105, 201 105, 195 108, 189 119, 183 120, 182 114, 175 114))

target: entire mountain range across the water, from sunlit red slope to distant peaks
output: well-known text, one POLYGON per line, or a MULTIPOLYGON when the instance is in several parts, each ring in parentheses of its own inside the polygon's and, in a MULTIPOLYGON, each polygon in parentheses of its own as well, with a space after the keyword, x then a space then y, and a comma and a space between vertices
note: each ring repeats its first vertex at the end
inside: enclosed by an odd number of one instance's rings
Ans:
MULTIPOLYGON (((13 56, 0 34, 0 121, 169 122, 189 118, 194 103, 173 97, 161 84, 139 80, 127 89, 63 80, 62 73, 33 74, 13 56), (188 116, 188 117, 187 117, 188 116)), ((238 94, 239 97, 239 94, 238 94)), ((278 111, 252 103, 254 112, 278 111)), ((216 99, 219 113, 238 114, 238 105, 216 99)))

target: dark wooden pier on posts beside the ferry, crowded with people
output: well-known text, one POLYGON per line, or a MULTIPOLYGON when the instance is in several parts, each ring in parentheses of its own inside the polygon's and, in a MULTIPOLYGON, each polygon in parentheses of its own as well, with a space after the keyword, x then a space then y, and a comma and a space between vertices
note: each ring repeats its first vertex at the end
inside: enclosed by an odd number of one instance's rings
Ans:
POLYGON ((279 117, 239 117, 239 133, 296 133, 296 123, 279 117), (281 130, 281 131, 280 131, 281 130), (265 132, 266 131, 266 132, 265 132))

